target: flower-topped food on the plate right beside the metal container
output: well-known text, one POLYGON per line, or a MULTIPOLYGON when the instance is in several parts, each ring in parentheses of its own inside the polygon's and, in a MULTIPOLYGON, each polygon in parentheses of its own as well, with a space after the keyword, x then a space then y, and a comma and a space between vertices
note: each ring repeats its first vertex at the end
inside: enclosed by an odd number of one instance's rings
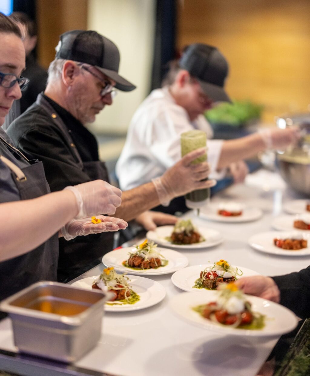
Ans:
POLYGON ((92 285, 92 288, 113 293, 112 299, 106 304, 135 304, 140 300, 138 294, 128 284, 129 278, 124 274, 117 274, 113 267, 106 268, 92 285))

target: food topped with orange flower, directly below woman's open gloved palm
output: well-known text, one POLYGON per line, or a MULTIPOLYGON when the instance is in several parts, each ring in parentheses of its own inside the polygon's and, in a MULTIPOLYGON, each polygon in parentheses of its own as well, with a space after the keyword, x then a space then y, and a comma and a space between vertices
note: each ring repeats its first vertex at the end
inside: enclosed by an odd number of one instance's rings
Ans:
POLYGON ((168 264, 168 260, 158 252, 157 244, 154 244, 153 241, 145 240, 135 246, 134 250, 135 252, 129 252, 129 259, 122 262, 127 268, 156 269, 168 264))

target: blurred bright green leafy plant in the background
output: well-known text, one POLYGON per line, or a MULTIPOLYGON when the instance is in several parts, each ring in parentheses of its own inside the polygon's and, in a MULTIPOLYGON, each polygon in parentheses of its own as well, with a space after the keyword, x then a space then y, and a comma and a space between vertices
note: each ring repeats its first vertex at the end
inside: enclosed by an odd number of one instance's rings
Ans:
POLYGON ((244 127, 259 120, 263 106, 250 100, 236 100, 233 103, 221 103, 205 112, 211 124, 229 124, 235 127, 244 127))

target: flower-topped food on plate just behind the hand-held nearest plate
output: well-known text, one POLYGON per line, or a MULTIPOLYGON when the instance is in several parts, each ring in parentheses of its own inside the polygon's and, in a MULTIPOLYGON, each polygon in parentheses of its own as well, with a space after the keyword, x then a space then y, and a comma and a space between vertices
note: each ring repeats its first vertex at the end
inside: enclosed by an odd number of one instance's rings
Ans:
POLYGON ((222 283, 234 282, 237 276, 242 276, 242 274, 242 271, 237 267, 231 266, 225 260, 219 260, 200 272, 200 277, 195 280, 193 287, 214 290, 222 283))

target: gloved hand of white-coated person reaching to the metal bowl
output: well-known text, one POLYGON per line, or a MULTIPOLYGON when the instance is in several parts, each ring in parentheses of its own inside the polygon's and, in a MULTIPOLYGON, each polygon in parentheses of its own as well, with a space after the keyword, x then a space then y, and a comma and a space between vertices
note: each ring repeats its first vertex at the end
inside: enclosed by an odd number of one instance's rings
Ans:
POLYGON ((296 126, 285 129, 262 128, 259 130, 266 149, 285 149, 287 146, 296 143, 301 137, 300 130, 296 126))

